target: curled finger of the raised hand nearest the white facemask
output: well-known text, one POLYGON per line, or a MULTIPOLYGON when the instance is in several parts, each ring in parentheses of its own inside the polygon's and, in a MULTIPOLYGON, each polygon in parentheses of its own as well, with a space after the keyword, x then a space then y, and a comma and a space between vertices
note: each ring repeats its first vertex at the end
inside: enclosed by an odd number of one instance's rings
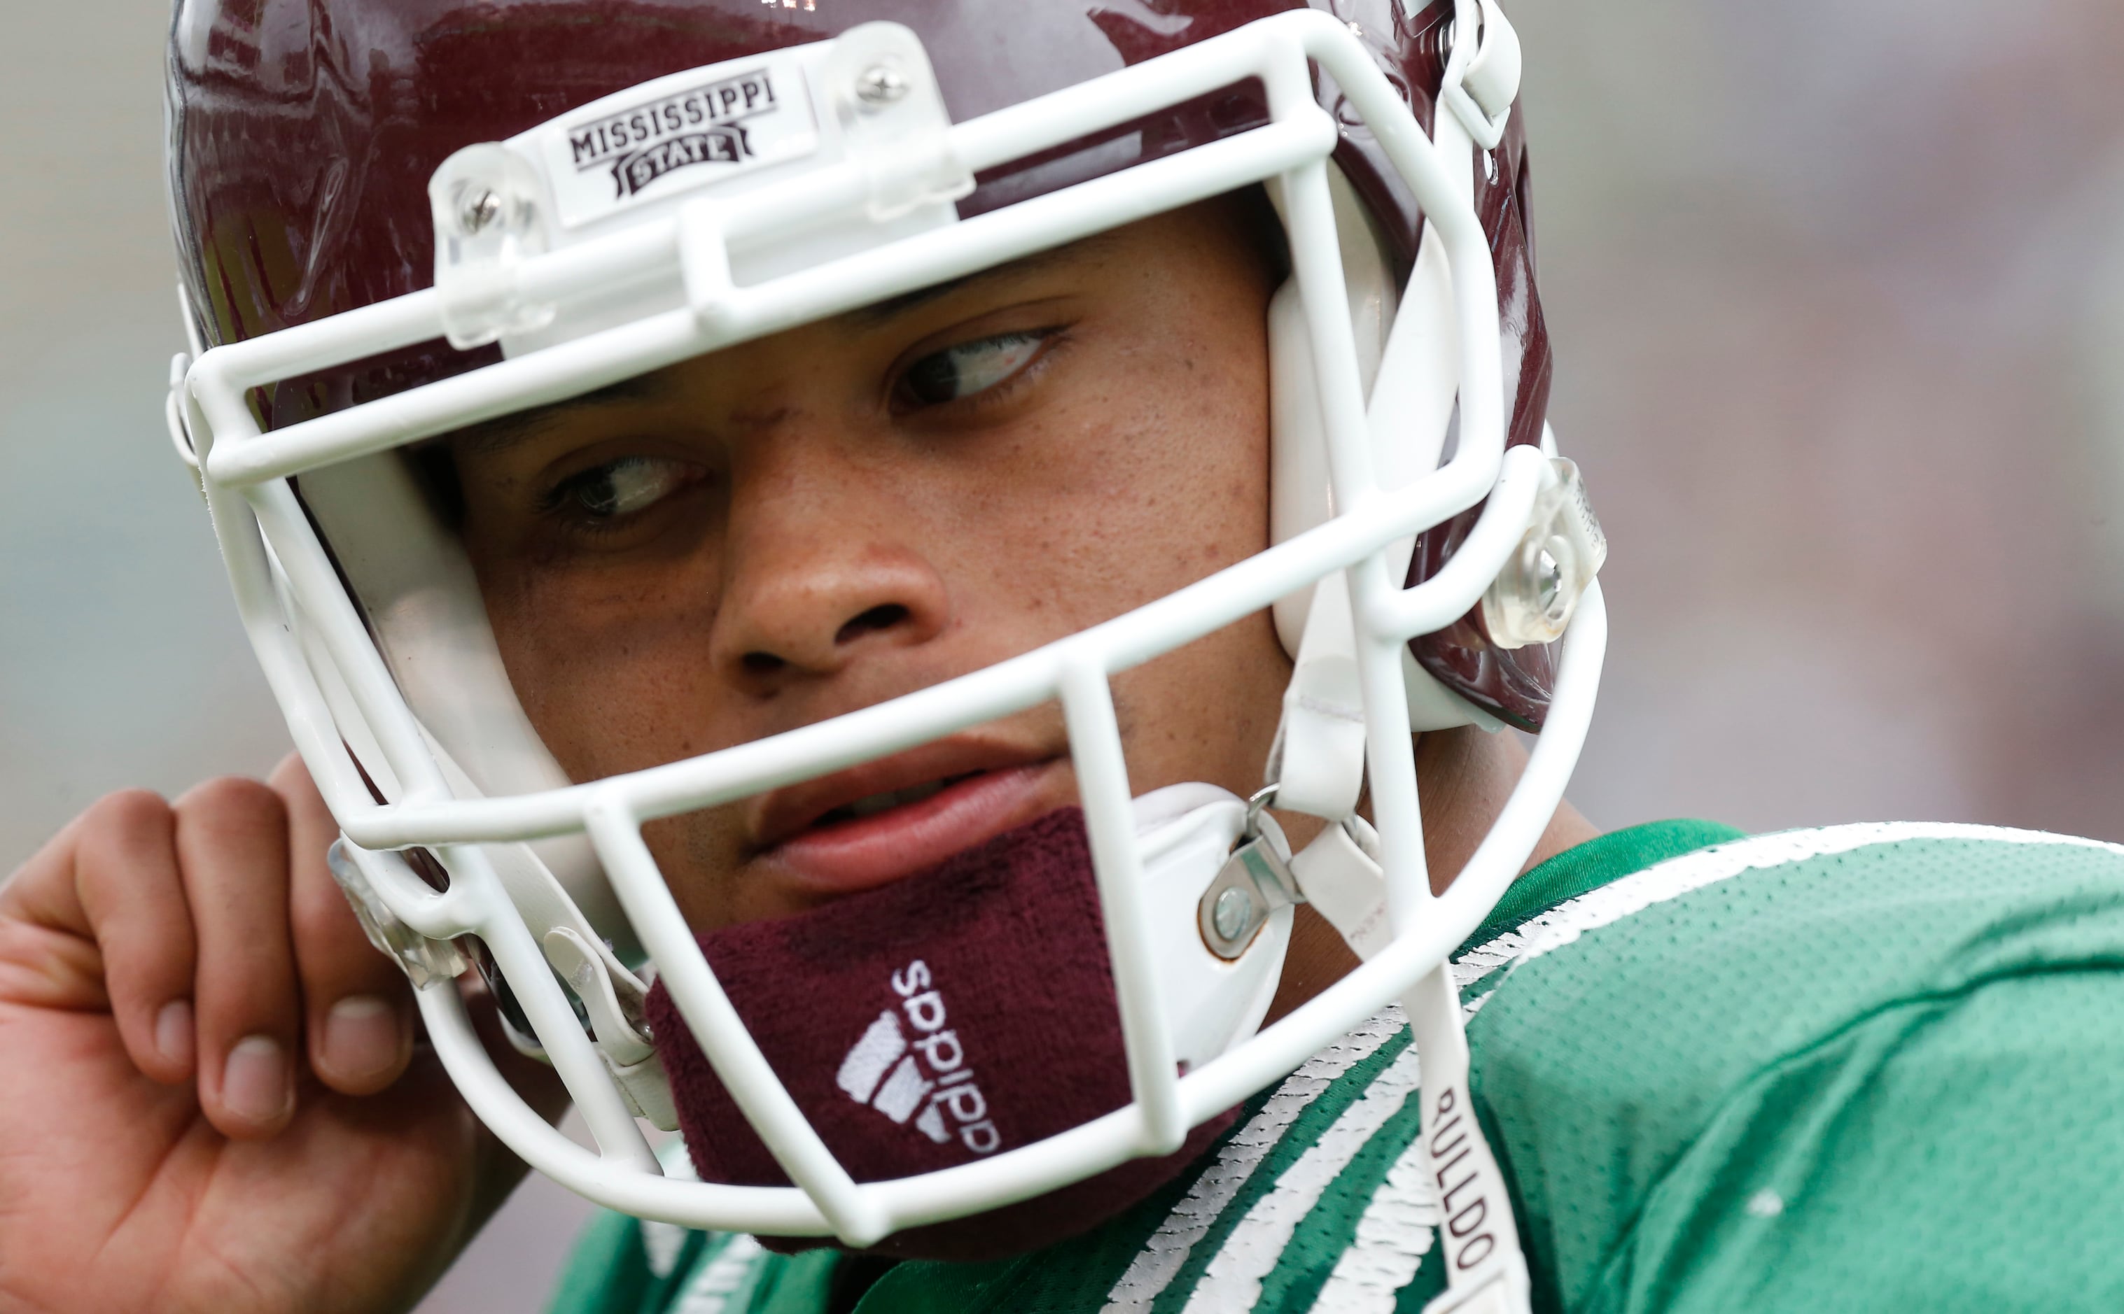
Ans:
POLYGON ((325 866, 340 824, 302 758, 280 762, 272 788, 287 805, 289 926, 310 1070, 336 1091, 370 1095, 397 1080, 412 1059, 412 989, 397 964, 370 945, 325 866))

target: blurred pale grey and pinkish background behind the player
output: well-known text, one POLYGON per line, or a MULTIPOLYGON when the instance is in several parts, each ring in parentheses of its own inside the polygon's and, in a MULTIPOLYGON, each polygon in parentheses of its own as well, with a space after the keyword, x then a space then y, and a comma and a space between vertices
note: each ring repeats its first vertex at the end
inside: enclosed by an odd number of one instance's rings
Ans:
MULTIPOLYGON (((2124 838, 2124 6, 1508 0, 1555 422, 1614 554, 1604 826, 2124 838)), ((0 870, 285 730, 161 433, 166 0, 0 49, 0 870)), ((423 1306, 535 1310, 531 1182, 423 1306)))

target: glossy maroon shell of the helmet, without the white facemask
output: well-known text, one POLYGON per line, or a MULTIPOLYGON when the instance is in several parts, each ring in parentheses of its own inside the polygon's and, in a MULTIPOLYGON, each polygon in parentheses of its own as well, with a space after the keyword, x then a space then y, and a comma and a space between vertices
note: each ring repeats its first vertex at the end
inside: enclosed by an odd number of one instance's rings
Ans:
MULTIPOLYGON (((208 346, 372 306, 433 282, 427 180, 467 142, 514 136, 650 79, 813 42, 858 21, 920 34, 954 121, 1090 81, 1298 8, 1289 0, 1121 0, 1022 4, 975 21, 935 0, 249 0, 178 6, 170 49, 170 189, 185 291, 208 346), (525 70, 537 70, 535 79, 525 70)), ((1317 4, 1347 21, 1432 127, 1453 4, 1317 4)), ((1351 115, 1332 79, 1319 100, 1342 138, 1334 159, 1408 280, 1423 212, 1351 115)), ((962 217, 1257 127, 1255 87, 1230 87, 977 176, 962 217)), ((1497 274, 1510 442, 1534 444, 1548 414, 1551 350, 1534 278, 1521 119, 1472 166, 1474 204, 1497 274)), ((474 369, 495 350, 442 344, 357 369, 261 388, 268 427, 474 369)), ((1423 535, 1410 584, 1432 577, 1474 518, 1423 535)), ((1287 639, 1296 643, 1296 633, 1287 639)), ((1555 679, 1546 645, 1497 647, 1480 611, 1419 637, 1417 658, 1483 711, 1538 730, 1555 679)))

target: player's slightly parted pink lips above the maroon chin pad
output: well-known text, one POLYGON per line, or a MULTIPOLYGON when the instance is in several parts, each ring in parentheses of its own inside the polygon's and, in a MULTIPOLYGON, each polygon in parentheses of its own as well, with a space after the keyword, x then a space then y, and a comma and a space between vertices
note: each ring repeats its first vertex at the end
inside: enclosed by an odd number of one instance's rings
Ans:
POLYGON ((792 894, 856 894, 937 866, 1058 807, 1066 758, 954 737, 754 800, 758 862, 792 894), (937 794, 820 826, 826 813, 890 790, 962 777, 937 794))

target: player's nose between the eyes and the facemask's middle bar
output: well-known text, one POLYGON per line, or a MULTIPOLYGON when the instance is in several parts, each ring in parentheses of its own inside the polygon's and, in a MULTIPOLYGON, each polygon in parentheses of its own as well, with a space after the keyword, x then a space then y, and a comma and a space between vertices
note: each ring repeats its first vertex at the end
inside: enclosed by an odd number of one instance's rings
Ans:
POLYGON ((775 694, 943 633, 949 594, 875 471, 835 461, 737 480, 712 660, 775 694))

